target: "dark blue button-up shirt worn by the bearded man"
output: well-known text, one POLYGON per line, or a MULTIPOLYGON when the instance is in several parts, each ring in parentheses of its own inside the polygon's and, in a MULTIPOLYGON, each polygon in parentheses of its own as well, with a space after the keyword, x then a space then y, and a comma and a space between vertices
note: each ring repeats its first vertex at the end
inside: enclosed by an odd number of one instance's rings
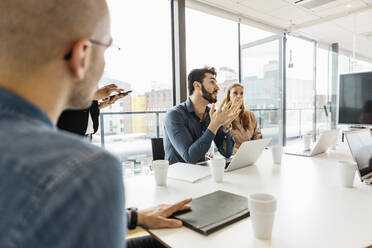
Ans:
POLYGON ((232 155, 235 142, 231 132, 225 133, 221 127, 214 135, 208 129, 211 121, 209 111, 207 107, 201 121, 188 98, 167 112, 164 121, 164 150, 165 159, 170 164, 204 161, 213 140, 223 156, 228 158, 232 155))

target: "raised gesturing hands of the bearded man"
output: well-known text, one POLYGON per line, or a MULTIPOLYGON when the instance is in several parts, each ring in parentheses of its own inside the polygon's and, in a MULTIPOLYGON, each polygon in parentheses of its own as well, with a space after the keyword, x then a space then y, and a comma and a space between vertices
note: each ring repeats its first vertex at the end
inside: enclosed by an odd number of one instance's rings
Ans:
POLYGON ((230 124, 239 116, 243 99, 235 98, 234 101, 227 103, 226 99, 220 105, 220 108, 215 111, 215 104, 212 104, 209 116, 211 122, 208 128, 214 133, 221 127, 229 127, 230 124))

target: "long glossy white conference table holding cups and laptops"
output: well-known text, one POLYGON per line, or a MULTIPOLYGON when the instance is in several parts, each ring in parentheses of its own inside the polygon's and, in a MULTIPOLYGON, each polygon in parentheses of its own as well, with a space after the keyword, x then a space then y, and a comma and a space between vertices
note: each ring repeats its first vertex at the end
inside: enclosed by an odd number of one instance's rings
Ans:
POLYGON ((153 175, 134 176, 125 178, 126 204, 141 209, 216 190, 247 197, 268 193, 277 199, 271 240, 253 236, 250 217, 208 236, 186 227, 149 232, 175 248, 367 247, 372 244, 372 185, 356 175, 353 188, 342 187, 340 160, 352 160, 345 143, 311 158, 284 154, 281 165, 265 150, 254 165, 225 172, 222 183, 211 177, 196 183, 168 179, 167 186, 160 187, 153 175))

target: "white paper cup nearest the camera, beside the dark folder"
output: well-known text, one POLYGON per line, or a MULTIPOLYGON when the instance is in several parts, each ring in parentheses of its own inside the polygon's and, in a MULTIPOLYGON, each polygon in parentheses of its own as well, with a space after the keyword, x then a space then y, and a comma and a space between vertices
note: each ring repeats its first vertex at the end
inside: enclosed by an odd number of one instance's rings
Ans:
POLYGON ((252 194, 248 198, 253 234, 258 239, 271 239, 276 199, 269 194, 252 194))

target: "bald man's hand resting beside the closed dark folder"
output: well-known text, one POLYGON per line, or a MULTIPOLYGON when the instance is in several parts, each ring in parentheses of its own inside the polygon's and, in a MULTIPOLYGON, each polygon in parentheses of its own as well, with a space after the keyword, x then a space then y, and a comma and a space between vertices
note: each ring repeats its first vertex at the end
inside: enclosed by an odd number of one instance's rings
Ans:
POLYGON ((180 201, 176 204, 161 204, 157 207, 138 211, 138 225, 144 228, 175 228, 181 227, 182 221, 169 219, 168 217, 180 210, 188 210, 191 207, 186 205, 191 198, 180 201))

